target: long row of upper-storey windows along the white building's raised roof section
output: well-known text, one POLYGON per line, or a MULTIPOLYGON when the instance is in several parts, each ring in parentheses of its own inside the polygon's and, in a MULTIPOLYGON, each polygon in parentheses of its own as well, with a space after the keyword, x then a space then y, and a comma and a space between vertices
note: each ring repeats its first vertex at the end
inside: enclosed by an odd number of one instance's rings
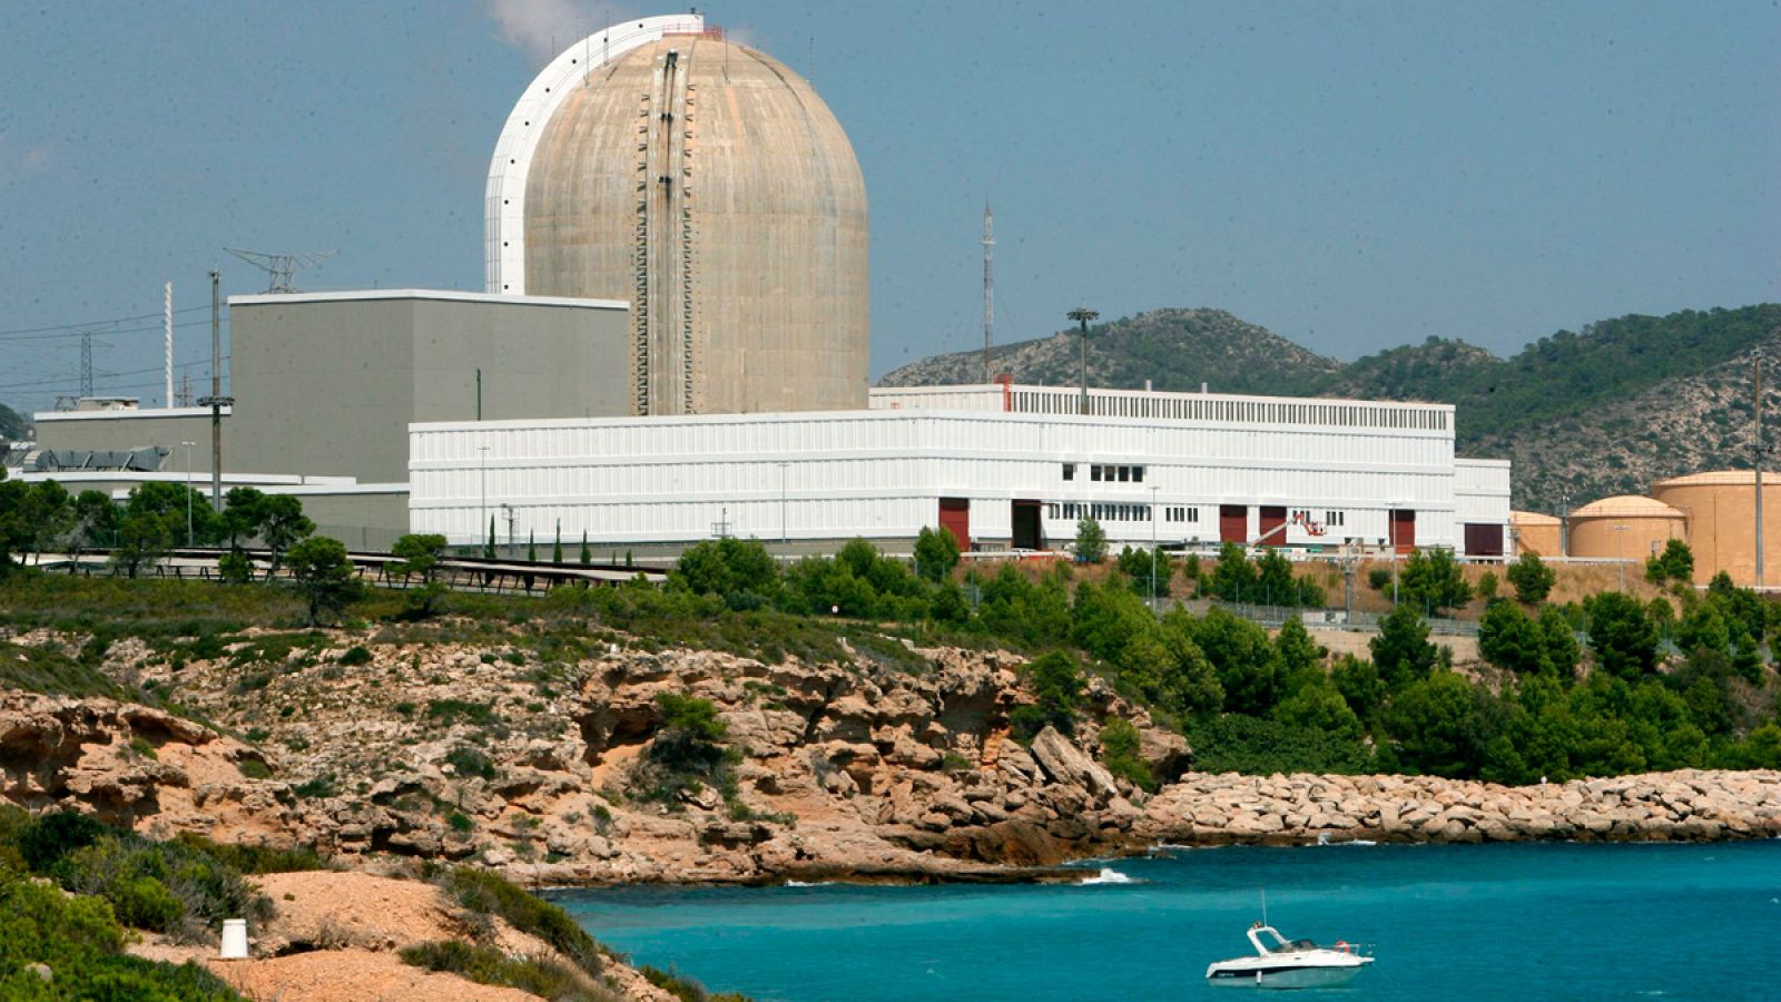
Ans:
MULTIPOLYGON (((1081 414, 1081 390, 1015 390, 1019 414, 1081 414)), ((1437 407, 1368 403, 1273 403, 1218 399, 1193 394, 1113 396, 1090 390, 1088 412, 1097 417, 1172 417, 1181 421, 1254 421, 1339 428, 1421 428, 1446 431, 1448 412, 1437 407)))

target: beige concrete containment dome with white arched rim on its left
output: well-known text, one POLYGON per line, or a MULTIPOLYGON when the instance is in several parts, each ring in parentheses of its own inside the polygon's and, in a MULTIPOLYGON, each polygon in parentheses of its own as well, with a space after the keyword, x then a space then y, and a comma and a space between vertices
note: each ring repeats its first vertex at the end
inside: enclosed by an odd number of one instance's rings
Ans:
POLYGON ((632 21, 552 62, 502 132, 488 209, 490 291, 632 303, 632 414, 866 407, 853 148, 810 84, 703 20, 632 21))

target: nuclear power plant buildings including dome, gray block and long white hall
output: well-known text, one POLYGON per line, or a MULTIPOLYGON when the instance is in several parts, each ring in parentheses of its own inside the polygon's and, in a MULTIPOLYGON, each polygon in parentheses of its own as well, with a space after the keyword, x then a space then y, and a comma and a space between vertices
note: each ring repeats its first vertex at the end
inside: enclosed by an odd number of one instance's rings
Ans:
MULTIPOLYGON (((479 547, 499 526, 639 556, 730 535, 908 553, 937 526, 1031 553, 1094 519, 1115 547, 1514 551, 1510 467, 1453 455, 1450 405, 869 390, 867 235, 860 164, 809 82, 696 14, 614 25, 499 130, 483 292, 230 300, 223 485, 301 494, 367 549, 479 547)), ((987 253, 983 292, 988 339, 987 253)), ((39 428, 57 469, 27 476, 121 496, 210 474, 208 410, 39 428), (109 455, 128 469, 94 465, 109 455)))

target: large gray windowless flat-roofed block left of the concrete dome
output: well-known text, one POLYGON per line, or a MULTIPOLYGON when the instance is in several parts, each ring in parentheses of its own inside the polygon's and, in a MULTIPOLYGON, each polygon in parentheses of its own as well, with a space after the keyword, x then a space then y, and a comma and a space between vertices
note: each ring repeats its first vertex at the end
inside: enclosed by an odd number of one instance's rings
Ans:
POLYGON ((408 480, 408 424, 620 417, 629 307, 386 289, 230 298, 224 471, 408 480))

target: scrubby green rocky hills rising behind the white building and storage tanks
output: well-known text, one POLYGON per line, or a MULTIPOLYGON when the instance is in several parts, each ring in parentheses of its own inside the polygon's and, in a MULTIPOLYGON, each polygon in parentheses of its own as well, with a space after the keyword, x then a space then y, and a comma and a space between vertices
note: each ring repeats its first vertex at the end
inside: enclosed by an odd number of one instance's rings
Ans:
MULTIPOLYGON (((1781 305, 1624 316, 1560 330, 1510 358, 1430 337, 1350 364, 1222 310, 1152 310, 1092 328, 1090 382, 1138 389, 1448 401, 1462 456, 1516 464, 1514 505, 1557 512, 1653 480, 1749 465, 1751 362, 1781 358, 1781 305)), ((1074 383, 1070 333, 1006 344, 1017 382, 1074 383)), ((1781 373, 1777 373, 1781 376, 1781 373)), ((940 355, 882 385, 978 382, 981 355, 940 355)), ((1781 403, 1770 383, 1767 414, 1781 403)))

